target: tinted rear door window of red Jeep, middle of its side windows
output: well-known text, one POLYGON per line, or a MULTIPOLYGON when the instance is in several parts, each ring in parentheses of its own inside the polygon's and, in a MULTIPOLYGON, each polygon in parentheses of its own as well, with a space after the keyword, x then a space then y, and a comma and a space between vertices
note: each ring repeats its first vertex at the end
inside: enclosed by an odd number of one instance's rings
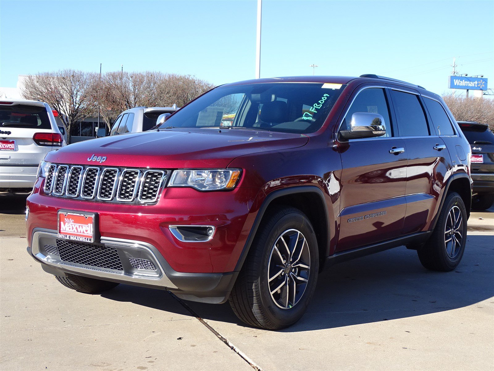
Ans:
POLYGON ((392 97, 400 137, 428 136, 429 128, 418 95, 393 90, 392 97))

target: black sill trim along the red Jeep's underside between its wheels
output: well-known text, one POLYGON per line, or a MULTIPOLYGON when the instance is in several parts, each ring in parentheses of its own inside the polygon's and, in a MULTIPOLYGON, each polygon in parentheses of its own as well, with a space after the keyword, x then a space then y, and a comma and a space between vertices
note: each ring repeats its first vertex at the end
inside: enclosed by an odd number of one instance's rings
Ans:
POLYGON ((330 266, 332 264, 346 262, 347 260, 352 260, 356 258, 361 258, 363 256, 371 255, 376 252, 389 250, 394 247, 398 247, 402 245, 422 243, 427 241, 427 239, 429 238, 432 232, 433 231, 412 233, 403 237, 393 238, 387 241, 373 243, 367 246, 357 247, 356 249, 336 252, 327 258, 326 263, 328 264, 328 266, 330 266))

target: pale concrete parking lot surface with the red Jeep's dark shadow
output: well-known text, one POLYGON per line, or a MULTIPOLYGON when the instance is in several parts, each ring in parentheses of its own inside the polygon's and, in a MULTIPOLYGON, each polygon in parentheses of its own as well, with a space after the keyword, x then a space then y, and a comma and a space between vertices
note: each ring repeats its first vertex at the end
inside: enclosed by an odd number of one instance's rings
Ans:
POLYGON ((228 304, 62 286, 26 253, 24 203, 0 195, 0 370, 494 370, 494 209, 471 214, 455 271, 405 247, 342 263, 267 331, 228 304))

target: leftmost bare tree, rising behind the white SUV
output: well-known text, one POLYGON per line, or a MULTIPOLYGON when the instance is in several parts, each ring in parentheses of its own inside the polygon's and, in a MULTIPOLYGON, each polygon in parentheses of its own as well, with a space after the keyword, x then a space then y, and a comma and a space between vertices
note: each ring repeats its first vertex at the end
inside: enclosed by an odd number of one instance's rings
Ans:
POLYGON ((60 114, 67 127, 67 142, 71 142, 72 126, 94 113, 96 78, 92 73, 60 70, 30 75, 21 94, 26 99, 47 102, 60 114))

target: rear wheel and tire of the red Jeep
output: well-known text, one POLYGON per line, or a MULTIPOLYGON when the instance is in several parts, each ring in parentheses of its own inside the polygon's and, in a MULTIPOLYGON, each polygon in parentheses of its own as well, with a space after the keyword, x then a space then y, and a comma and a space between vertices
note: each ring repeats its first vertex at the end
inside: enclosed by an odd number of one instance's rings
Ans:
POLYGON ((460 195, 449 193, 432 236, 417 249, 420 263, 425 268, 449 272, 458 266, 465 251, 466 220, 465 204, 460 195))

